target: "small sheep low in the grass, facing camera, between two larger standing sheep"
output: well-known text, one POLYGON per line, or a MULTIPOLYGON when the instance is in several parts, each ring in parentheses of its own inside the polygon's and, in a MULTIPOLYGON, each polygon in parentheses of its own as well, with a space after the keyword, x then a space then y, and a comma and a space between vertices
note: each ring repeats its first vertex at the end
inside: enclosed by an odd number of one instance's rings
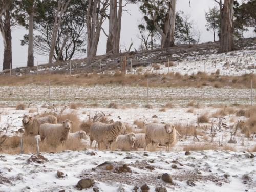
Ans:
POLYGON ((131 150, 134 147, 135 134, 133 132, 127 135, 118 135, 116 141, 112 143, 115 148, 120 150, 131 150))

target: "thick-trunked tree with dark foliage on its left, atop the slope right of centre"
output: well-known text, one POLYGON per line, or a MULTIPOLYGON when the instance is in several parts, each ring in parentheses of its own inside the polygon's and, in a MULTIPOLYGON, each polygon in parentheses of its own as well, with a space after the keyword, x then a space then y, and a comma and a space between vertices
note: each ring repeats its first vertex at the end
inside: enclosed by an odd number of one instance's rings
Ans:
POLYGON ((144 0, 140 10, 144 14, 147 25, 153 24, 155 30, 161 35, 161 47, 174 46, 176 0, 144 0))

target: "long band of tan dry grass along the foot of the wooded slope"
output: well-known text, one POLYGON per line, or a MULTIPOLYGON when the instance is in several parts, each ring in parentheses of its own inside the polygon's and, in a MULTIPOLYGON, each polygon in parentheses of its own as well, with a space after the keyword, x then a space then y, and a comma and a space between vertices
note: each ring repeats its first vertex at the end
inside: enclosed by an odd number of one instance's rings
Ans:
POLYGON ((6 76, 0 76, 0 85, 3 86, 20 86, 25 84, 48 84, 49 78, 51 84, 54 85, 78 85, 88 86, 95 84, 121 84, 130 86, 147 86, 147 79, 150 80, 151 87, 197 87, 198 83, 205 82, 208 86, 217 87, 229 86, 232 88, 250 88, 251 79, 253 81, 253 88, 256 88, 256 75, 246 74, 242 76, 220 76, 216 74, 207 75, 198 73, 193 75, 193 80, 189 75, 181 75, 180 73, 169 73, 165 75, 160 74, 122 74, 116 72, 113 74, 80 74, 76 76, 69 76, 64 74, 39 74, 39 75, 22 75, 11 76, 6 80, 6 76), (163 77, 165 80, 163 81, 163 77))

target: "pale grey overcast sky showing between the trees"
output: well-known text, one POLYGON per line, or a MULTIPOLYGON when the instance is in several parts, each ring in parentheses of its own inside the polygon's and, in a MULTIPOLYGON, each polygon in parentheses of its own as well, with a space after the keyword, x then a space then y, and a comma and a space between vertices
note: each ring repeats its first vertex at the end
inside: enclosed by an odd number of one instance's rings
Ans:
MULTIPOLYGON (((185 14, 189 14, 190 19, 193 20, 194 25, 201 32, 201 42, 213 41, 212 33, 206 31, 205 29, 205 11, 209 8, 217 5, 213 0, 191 0, 189 6, 189 0, 177 0, 177 11, 182 10, 185 14)), ((122 26, 121 26, 121 39, 120 46, 123 49, 124 46, 129 47, 131 44, 131 39, 134 44, 133 47, 136 49, 140 45, 140 40, 137 38, 138 34, 138 24, 142 20, 142 15, 139 11, 139 5, 128 5, 126 9, 130 10, 129 13, 124 12, 122 16, 122 26)), ((105 31, 108 31, 108 21, 103 24, 105 31)), ((12 31, 12 61, 13 67, 26 66, 27 63, 27 46, 20 45, 20 39, 23 38, 23 35, 28 33, 25 29, 15 29, 12 31)), ((253 32, 248 32, 246 37, 255 37, 256 34, 253 32)), ((3 69, 3 39, 0 36, 0 70, 3 69)), ((134 50, 132 48, 132 50, 134 50)), ((97 54, 105 54, 106 51, 106 37, 101 33, 98 52, 97 54)), ((35 53, 35 64, 38 61, 39 63, 46 63, 48 61, 47 56, 37 55, 35 53)), ((83 57, 86 57, 85 55, 83 57)))

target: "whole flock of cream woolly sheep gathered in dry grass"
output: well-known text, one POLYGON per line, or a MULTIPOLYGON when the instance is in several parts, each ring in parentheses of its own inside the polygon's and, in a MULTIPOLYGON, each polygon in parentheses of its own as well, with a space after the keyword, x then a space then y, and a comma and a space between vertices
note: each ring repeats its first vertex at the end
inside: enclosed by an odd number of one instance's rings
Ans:
MULTIPOLYGON (((88 136, 84 131, 70 133, 72 130, 72 122, 65 120, 61 124, 57 124, 57 118, 53 115, 45 117, 23 116, 22 124, 24 134, 30 136, 40 135, 41 141, 58 140, 60 142, 69 138, 87 139, 88 136)), ((94 122, 90 127, 90 147, 93 141, 96 141, 95 149, 104 145, 107 149, 119 148, 121 150, 132 150, 138 148, 147 149, 148 144, 156 146, 157 144, 169 147, 175 145, 177 141, 178 131, 172 124, 150 123, 145 125, 145 133, 126 133, 125 125, 116 121, 111 124, 94 122)))

